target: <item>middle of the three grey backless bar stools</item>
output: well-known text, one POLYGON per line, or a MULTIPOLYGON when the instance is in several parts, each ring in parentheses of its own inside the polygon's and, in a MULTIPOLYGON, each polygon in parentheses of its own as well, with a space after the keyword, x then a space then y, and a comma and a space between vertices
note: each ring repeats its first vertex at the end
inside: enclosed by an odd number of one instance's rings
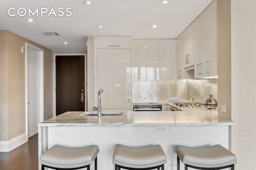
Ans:
POLYGON ((118 144, 113 156, 115 170, 164 170, 164 163, 166 155, 160 145, 128 147, 118 144))

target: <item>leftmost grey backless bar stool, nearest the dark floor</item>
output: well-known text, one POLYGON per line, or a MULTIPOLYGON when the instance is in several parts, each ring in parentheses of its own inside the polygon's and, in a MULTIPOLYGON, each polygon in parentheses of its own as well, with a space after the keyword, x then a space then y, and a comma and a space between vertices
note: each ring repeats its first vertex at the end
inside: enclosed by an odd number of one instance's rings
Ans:
POLYGON ((97 154, 99 147, 92 145, 88 147, 64 147, 54 145, 49 150, 46 150, 39 159, 44 167, 56 170, 76 170, 87 168, 90 170, 90 165, 94 161, 95 170, 97 170, 97 154))

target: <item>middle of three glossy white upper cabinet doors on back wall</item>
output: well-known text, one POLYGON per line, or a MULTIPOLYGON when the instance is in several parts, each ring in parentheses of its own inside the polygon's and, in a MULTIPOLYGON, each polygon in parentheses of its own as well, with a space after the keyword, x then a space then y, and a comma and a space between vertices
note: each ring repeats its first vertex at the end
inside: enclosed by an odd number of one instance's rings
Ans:
POLYGON ((159 80, 159 39, 147 39, 147 80, 159 80))

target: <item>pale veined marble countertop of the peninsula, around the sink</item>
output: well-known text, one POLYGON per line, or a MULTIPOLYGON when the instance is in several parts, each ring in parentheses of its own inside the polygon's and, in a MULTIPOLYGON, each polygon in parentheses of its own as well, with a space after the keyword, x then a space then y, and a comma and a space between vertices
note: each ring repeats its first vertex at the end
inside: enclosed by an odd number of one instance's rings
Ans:
POLYGON ((219 117, 217 111, 124 111, 122 115, 83 116, 84 111, 68 111, 39 123, 50 126, 226 126, 236 122, 219 117))

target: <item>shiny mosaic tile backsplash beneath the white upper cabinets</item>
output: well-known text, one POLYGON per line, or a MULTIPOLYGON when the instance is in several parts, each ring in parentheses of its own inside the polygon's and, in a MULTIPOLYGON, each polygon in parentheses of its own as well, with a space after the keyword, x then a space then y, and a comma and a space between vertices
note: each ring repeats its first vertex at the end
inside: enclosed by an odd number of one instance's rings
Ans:
POLYGON ((168 97, 204 103, 212 94, 218 101, 217 79, 198 79, 189 81, 133 81, 132 101, 165 101, 168 97))

